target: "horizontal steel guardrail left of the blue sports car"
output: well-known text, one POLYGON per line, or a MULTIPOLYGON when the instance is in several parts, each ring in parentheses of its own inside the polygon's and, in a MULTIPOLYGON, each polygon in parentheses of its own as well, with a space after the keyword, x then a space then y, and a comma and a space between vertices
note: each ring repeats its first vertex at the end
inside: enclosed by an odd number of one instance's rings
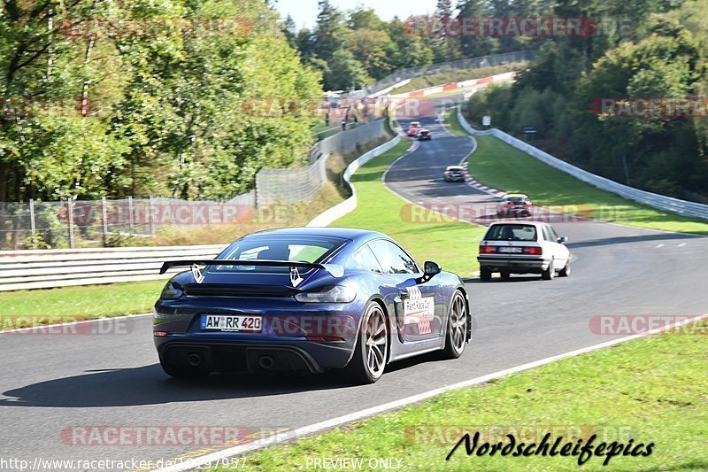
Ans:
MULTIPOLYGON (((0 251, 0 291, 164 279, 165 260, 212 259, 225 244, 0 251)), ((173 269, 168 274, 180 272, 173 269)))

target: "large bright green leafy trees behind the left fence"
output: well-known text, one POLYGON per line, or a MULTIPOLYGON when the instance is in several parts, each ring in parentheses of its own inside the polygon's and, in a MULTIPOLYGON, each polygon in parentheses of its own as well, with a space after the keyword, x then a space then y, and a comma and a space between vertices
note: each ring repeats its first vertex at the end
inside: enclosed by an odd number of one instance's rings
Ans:
POLYGON ((233 196, 304 159, 319 81, 263 0, 5 0, 0 201, 233 196))

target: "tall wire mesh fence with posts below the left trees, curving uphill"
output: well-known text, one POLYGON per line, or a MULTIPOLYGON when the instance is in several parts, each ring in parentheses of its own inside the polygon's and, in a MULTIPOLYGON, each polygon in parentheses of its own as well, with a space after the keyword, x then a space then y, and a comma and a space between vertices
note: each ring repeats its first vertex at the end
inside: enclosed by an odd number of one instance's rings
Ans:
POLYGON ((386 133, 384 120, 379 119, 329 136, 313 145, 311 164, 262 168, 256 176, 256 190, 225 202, 127 197, 0 203, 0 249, 135 245, 127 238, 149 237, 164 226, 249 221, 256 208, 312 200, 325 184, 327 157, 358 151, 386 133))

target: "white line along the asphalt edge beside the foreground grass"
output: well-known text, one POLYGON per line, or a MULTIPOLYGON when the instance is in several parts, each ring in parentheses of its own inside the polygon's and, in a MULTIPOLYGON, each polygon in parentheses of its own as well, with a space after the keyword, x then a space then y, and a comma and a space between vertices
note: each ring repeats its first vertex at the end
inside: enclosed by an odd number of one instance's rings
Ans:
POLYGON ((492 374, 482 375, 481 377, 476 377, 476 378, 466 380, 463 382, 452 383, 450 385, 440 387, 440 388, 437 388, 437 389, 434 389, 431 391, 424 391, 422 393, 419 393, 418 395, 413 395, 411 397, 401 398, 401 399, 391 401, 389 403, 385 403, 385 404, 379 405, 379 406, 372 406, 371 408, 366 408, 365 410, 361 410, 361 411, 354 412, 351 414, 345 414, 343 416, 339 416, 337 418, 332 418, 331 420, 327 420, 324 422, 314 423, 309 426, 304 426, 303 428, 285 431, 284 433, 282 433, 280 435, 264 437, 262 439, 258 439, 258 441, 254 441, 253 443, 250 443, 248 445, 236 445, 234 447, 229 447, 227 449, 224 449, 223 451, 219 451, 218 453, 209 453, 209 454, 205 454, 201 457, 193 457, 193 458, 185 459, 184 462, 182 462, 180 464, 173 465, 171 467, 153 469, 153 472, 182 472, 184 470, 190 470, 193 468, 203 467, 208 464, 215 465, 215 464, 219 463, 219 460, 225 460, 230 457, 240 456, 244 453, 250 453, 253 451, 257 451, 258 449, 263 449, 264 447, 267 447, 269 445, 276 445, 276 444, 283 443, 285 441, 291 441, 291 440, 298 439, 300 437, 309 436, 314 433, 319 433, 319 432, 325 431, 327 429, 333 429, 333 428, 336 428, 338 426, 342 426, 343 424, 347 424, 350 422, 357 422, 357 421, 367 418, 369 416, 373 416, 374 414, 381 414, 381 413, 387 412, 389 410, 395 410, 397 408, 401 408, 402 406, 406 406, 406 405, 410 405, 412 403, 418 403, 420 401, 427 400, 428 398, 435 397, 435 395, 439 395, 445 391, 459 390, 459 389, 463 389, 466 387, 471 387, 473 385, 478 385, 480 383, 489 382, 492 379, 504 377, 506 375, 515 374, 517 372, 528 370, 530 368, 541 367, 546 364, 550 364, 551 362, 555 362, 556 360, 561 360, 561 359, 565 359, 568 357, 575 357, 580 354, 584 354, 586 352, 597 351, 597 350, 603 349, 605 347, 610 347, 612 345, 625 343, 627 341, 631 341, 633 339, 638 339, 640 337, 658 334, 661 331, 664 331, 666 329, 678 328, 678 327, 683 326, 685 324, 689 324, 691 322, 704 320, 704 319, 708 319, 708 313, 698 315, 693 318, 689 318, 688 320, 678 321, 676 323, 672 323, 672 324, 662 327, 662 328, 651 329, 650 331, 647 331, 646 333, 627 336, 627 337, 621 337, 620 339, 615 339, 613 341, 607 341, 605 343, 595 344, 595 345, 591 345, 588 347, 583 347, 581 349, 576 349, 574 351, 565 352, 563 354, 558 354, 556 356, 551 356, 546 359, 528 362, 527 364, 522 364, 522 365, 517 366, 515 368, 507 368, 504 370, 500 370, 498 372, 494 372, 492 374))

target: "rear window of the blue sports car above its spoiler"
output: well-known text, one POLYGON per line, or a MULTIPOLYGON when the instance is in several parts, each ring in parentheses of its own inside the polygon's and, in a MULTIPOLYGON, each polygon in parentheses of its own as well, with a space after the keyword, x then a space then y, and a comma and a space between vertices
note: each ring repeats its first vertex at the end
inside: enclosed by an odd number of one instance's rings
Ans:
MULTIPOLYGON (((219 259, 292 260, 319 263, 346 244, 329 236, 257 236, 231 244, 219 259)), ((264 272, 286 274, 289 267, 212 266, 210 272, 264 272)))

